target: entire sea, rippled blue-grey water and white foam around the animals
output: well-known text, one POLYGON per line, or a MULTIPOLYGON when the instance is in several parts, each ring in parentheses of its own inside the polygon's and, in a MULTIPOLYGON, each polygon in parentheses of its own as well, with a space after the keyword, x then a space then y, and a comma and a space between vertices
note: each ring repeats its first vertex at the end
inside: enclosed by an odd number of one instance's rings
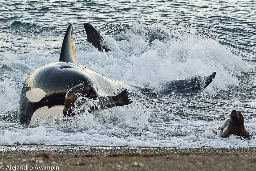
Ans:
POLYGON ((256 147, 256 2, 251 0, 0 0, 0 145, 120 147, 256 147), (216 77, 203 91, 133 103, 76 118, 19 123, 19 97, 29 74, 59 60, 74 23, 80 64, 113 79, 157 92, 161 83, 216 77), (113 49, 87 42, 92 24, 113 49), (252 140, 223 139, 217 130, 231 110, 245 116, 252 140))

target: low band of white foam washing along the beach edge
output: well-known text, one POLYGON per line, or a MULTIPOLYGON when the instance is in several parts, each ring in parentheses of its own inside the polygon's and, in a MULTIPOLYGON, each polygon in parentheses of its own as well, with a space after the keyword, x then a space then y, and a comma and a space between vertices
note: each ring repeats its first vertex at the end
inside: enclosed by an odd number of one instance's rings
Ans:
MULTIPOLYGON (((192 127, 197 127, 197 123, 189 123, 192 127)), ((200 123, 199 123, 200 124, 200 123)), ((201 123, 202 124, 202 123, 201 123)), ((209 124, 211 123, 204 123, 209 124)), ((181 126, 185 126, 180 124, 181 126)), ((138 125, 129 125, 132 129, 139 129, 138 125)), ((102 126, 101 126, 102 127, 102 126)), ((150 127, 150 126, 149 126, 150 127)), ((103 127, 102 127, 103 128, 103 127)), ((142 135, 122 136, 124 130, 110 129, 104 127, 103 130, 94 127, 90 131, 64 132, 56 128, 46 128, 39 126, 36 128, 26 128, 19 130, 5 130, 0 136, 0 144, 48 144, 48 145, 84 145, 84 146, 125 146, 125 147, 186 147, 186 148, 248 148, 255 147, 255 139, 244 140, 236 136, 222 139, 220 131, 217 135, 212 132, 210 126, 206 127, 203 133, 185 133, 184 136, 163 137, 161 132, 142 132, 142 135), (113 135, 112 132, 120 133, 113 135), (162 137, 161 137, 162 136, 162 137)), ((155 128, 156 129, 156 128, 155 128)), ((195 128, 194 128, 195 129, 195 128)))

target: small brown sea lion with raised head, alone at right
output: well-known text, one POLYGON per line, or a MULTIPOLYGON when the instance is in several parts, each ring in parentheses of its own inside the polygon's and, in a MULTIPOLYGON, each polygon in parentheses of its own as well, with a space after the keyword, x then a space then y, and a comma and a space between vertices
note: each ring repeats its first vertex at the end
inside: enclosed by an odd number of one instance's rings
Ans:
POLYGON ((230 118, 225 119, 218 130, 223 131, 222 138, 233 134, 251 140, 250 134, 244 126, 244 115, 237 110, 231 111, 230 118))

